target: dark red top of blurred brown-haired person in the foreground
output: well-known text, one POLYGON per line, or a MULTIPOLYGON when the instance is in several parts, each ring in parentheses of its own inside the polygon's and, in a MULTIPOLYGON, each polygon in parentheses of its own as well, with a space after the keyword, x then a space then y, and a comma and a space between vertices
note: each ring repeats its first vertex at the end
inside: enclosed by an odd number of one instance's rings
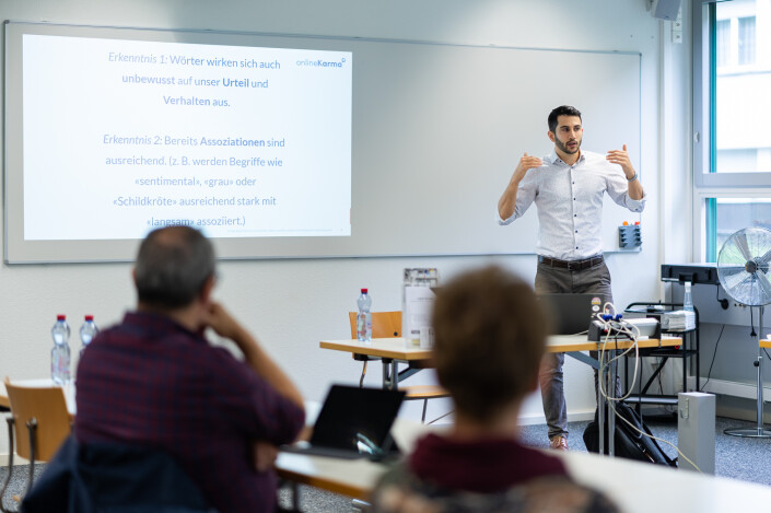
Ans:
POLYGON ((618 513, 596 490, 581 486, 558 458, 512 439, 458 441, 435 433, 418 441, 372 494, 373 513, 618 513))

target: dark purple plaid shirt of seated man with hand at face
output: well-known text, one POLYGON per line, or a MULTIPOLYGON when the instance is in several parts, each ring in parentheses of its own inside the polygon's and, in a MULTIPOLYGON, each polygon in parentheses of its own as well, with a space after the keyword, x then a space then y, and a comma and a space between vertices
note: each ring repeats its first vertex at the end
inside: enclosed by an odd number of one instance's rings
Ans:
POLYGON ((254 468, 252 443, 292 442, 303 411, 225 349, 167 317, 129 313, 78 366, 75 436, 167 451, 210 505, 273 511, 277 477, 254 468))

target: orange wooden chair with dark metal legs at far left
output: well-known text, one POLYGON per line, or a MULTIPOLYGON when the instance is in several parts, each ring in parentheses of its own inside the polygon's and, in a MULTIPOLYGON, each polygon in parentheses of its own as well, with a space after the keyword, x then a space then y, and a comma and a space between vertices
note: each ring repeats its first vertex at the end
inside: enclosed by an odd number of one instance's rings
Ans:
POLYGON ((72 432, 72 418, 67 411, 65 393, 60 386, 16 386, 5 377, 5 390, 11 405, 8 417, 8 477, 0 491, 2 497, 13 474, 14 432, 17 440, 15 453, 30 460, 28 491, 35 474, 35 462, 47 462, 72 432))

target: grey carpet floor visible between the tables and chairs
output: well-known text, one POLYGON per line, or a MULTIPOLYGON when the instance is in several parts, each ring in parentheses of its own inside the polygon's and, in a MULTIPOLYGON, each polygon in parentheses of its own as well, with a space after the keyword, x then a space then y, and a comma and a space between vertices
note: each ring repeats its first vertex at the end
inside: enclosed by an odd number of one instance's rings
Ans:
MULTIPOLYGON (((647 417, 645 423, 651 428, 653 434, 677 445, 677 419, 673 417, 647 417)), ((584 429, 588 422, 569 423, 569 442, 571 451, 585 452, 586 447, 582 439, 584 429)), ((715 475, 739 479, 744 481, 758 482, 771 486, 771 473, 764 469, 771 468, 771 439, 740 439, 728 436, 723 430, 731 428, 755 428, 755 422, 717 418, 715 435, 715 475), (761 470, 763 469, 763 470, 761 470)), ((548 447, 549 441, 546 436, 546 425, 526 425, 521 431, 522 441, 534 447, 548 447)), ((670 457, 676 456, 676 451, 668 446, 662 447, 670 457)), ((36 466, 36 475, 43 470, 43 465, 36 466)), ((22 493, 25 487, 25 478, 28 471, 27 466, 16 466, 13 471, 13 479, 5 493, 3 503, 15 509, 15 504, 10 497, 22 493)), ((5 480, 8 467, 0 467, 0 482, 5 480)), ((279 491, 279 501, 282 505, 289 506, 291 494, 289 490, 279 491)), ((335 493, 328 493, 311 487, 300 487, 300 506, 302 511, 308 513, 343 513, 357 511, 351 500, 335 493)))

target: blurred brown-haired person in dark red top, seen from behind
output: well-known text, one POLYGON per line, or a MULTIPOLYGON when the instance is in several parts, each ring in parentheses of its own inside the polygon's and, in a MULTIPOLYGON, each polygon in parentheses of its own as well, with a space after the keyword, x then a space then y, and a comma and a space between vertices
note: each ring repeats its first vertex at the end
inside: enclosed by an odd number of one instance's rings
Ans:
POLYGON ((455 401, 447 434, 421 439, 373 494, 375 512, 616 512, 562 462, 516 440, 538 384, 547 326, 533 289, 498 267, 443 288, 433 313, 439 381, 455 401))

